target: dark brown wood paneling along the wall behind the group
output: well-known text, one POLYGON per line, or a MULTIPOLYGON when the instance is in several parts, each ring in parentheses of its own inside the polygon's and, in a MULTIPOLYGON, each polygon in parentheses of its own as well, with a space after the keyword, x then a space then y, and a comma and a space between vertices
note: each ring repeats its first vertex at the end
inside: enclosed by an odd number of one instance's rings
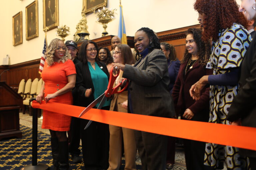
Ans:
MULTIPOLYGON (((160 39, 160 42, 168 42, 175 46, 177 57, 179 60, 181 60, 185 51, 186 31, 189 28, 200 28, 200 25, 198 24, 198 25, 193 25, 189 27, 183 27, 183 28, 178 28, 174 30, 157 33, 160 39)), ((111 35, 111 36, 101 37, 92 41, 96 42, 99 47, 105 46, 105 47, 108 47, 109 50, 112 50, 112 47, 111 47, 112 37, 114 36, 111 35)), ((127 36, 127 42, 131 48, 134 48, 133 41, 134 41, 134 37, 127 36)), ((80 46, 81 44, 82 42, 78 43, 78 46, 80 46)), ((10 69, 9 71, 6 71, 1 75, 0 81, 6 81, 7 84, 11 87, 18 87, 21 79, 25 79, 25 81, 27 81, 29 78, 31 78, 32 80, 35 78, 41 78, 40 74, 38 73, 39 63, 40 63, 40 58, 18 63, 18 64, 0 66, 0 74, 6 69, 10 69)))

